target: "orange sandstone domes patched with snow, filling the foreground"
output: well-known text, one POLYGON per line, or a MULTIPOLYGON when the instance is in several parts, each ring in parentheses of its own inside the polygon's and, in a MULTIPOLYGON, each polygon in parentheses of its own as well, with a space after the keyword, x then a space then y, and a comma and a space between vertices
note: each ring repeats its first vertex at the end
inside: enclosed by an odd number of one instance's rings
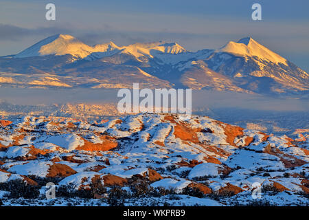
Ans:
POLYGON ((27 116, 0 128, 0 190, 14 175, 39 186, 43 199, 46 188, 36 179, 49 177, 92 198, 105 197, 93 191, 100 183, 107 192, 119 186, 134 199, 135 184, 143 181, 153 193, 174 188, 156 195, 178 193, 185 204, 190 195, 209 205, 216 197, 220 206, 238 199, 244 205, 308 206, 308 143, 308 136, 292 140, 195 115, 182 121, 174 114, 137 114, 92 124, 27 116), (262 186, 258 201, 251 197, 256 184, 262 186))

